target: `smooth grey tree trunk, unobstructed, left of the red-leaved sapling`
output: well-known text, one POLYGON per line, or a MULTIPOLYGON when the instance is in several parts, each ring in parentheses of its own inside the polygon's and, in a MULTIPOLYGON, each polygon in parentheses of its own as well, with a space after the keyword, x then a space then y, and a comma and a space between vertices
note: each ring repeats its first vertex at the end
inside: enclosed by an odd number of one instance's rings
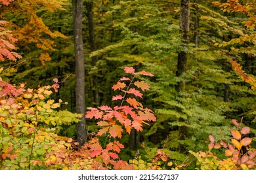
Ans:
POLYGON ((77 142, 79 148, 85 144, 85 63, 83 53, 83 0, 74 0, 74 46, 75 46, 75 108, 76 112, 83 114, 81 121, 76 125, 77 142))

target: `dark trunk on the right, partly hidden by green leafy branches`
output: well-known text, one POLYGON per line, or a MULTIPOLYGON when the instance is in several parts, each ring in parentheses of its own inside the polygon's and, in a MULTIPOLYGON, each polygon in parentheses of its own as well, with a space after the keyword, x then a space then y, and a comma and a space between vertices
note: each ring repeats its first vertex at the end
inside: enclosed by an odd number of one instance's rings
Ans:
MULTIPOLYGON (((189 16, 190 16, 190 9, 189 9, 189 0, 181 0, 181 16, 180 16, 180 32, 182 35, 182 42, 183 46, 188 48, 188 41, 189 41, 189 16)), ((176 76, 181 76, 182 74, 186 73, 187 70, 187 62, 188 62, 188 53, 186 51, 181 51, 178 54, 178 64, 177 64, 177 73, 176 76)), ((177 93, 185 91, 186 84, 184 82, 179 82, 176 87, 177 93)), ((183 119, 180 119, 181 122, 184 122, 183 119)), ((184 140, 186 137, 186 126, 179 127, 179 140, 184 140)), ((184 152, 185 148, 180 143, 179 144, 179 152, 184 152)))

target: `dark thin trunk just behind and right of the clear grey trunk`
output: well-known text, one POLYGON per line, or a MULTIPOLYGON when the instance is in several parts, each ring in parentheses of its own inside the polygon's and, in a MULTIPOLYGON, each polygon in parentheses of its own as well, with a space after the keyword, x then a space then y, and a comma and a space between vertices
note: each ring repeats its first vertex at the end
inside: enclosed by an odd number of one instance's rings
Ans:
MULTIPOLYGON (((93 1, 87 1, 85 2, 85 7, 87 8, 86 16, 88 20, 88 29, 89 29, 89 44, 91 52, 94 52, 96 50, 96 44, 95 44, 95 29, 94 29, 94 23, 93 23, 93 1)), ((93 66, 96 65, 97 58, 94 56, 92 58, 92 64, 93 66)), ((95 105, 99 105, 100 99, 98 95, 98 76, 93 76, 93 100, 95 102, 95 105)))

